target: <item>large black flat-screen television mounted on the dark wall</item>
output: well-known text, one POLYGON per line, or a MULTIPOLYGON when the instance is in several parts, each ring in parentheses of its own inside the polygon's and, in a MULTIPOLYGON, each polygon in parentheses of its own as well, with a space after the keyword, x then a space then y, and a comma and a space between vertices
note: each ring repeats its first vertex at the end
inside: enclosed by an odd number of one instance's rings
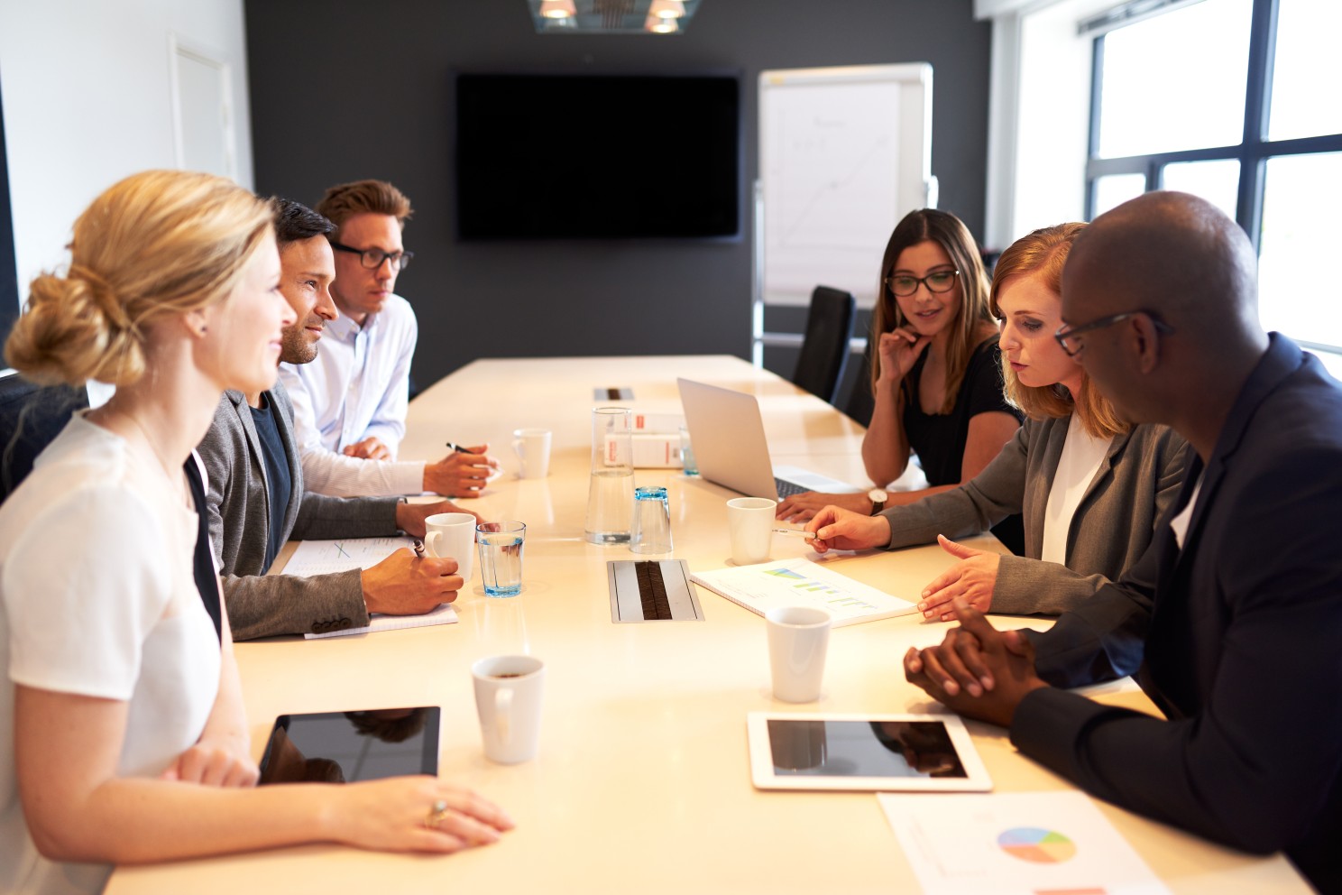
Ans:
POLYGON ((735 236, 739 97, 730 75, 459 74, 458 235, 735 236))

